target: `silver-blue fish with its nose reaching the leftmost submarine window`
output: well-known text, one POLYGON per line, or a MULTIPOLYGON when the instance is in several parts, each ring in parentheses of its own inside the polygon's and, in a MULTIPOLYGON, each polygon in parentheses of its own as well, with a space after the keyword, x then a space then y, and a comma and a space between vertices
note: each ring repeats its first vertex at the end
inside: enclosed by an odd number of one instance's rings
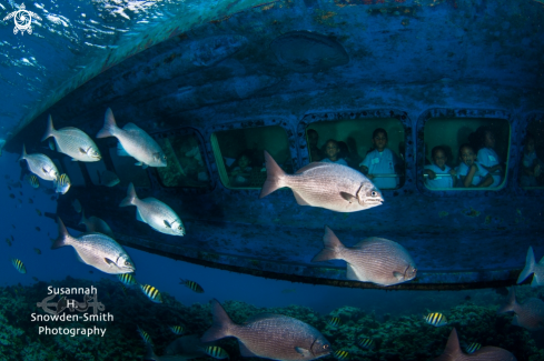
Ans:
POLYGON ((136 166, 166 167, 166 156, 159 144, 144 130, 133 123, 128 123, 122 129, 117 127, 113 112, 108 108, 103 120, 103 128, 97 138, 115 137, 119 141, 118 156, 133 157, 136 166))

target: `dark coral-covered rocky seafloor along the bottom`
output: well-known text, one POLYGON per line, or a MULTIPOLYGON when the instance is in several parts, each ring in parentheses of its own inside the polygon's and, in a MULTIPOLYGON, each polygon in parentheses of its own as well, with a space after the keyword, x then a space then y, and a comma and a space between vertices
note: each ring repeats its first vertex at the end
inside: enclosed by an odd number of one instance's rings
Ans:
MULTIPOLYGON (((517 288, 518 301, 528 297, 544 299, 544 293, 527 287, 517 288)), ((82 295, 72 295, 82 301, 82 295)), ((201 335, 211 325, 209 304, 184 305, 167 293, 164 303, 148 300, 137 288, 128 288, 125 294, 119 282, 102 279, 100 282, 67 278, 49 283, 37 282, 31 287, 12 285, 0 288, 0 360, 2 361, 98 361, 98 360, 141 360, 146 353, 145 344, 137 328, 140 327, 151 338, 155 352, 161 355, 167 344, 178 335, 169 325, 179 324, 185 334, 201 335), (31 314, 46 314, 37 308, 37 302, 47 297, 48 285, 56 288, 98 289, 98 299, 106 307, 103 312, 113 315, 113 321, 102 322, 32 322, 31 314), (99 335, 44 335, 39 327, 48 328, 106 328, 103 338, 99 335)), ((497 314, 496 310, 505 295, 496 294, 489 304, 477 305, 467 300, 444 312, 448 324, 435 328, 423 320, 422 314, 403 317, 376 315, 368 310, 344 307, 328 315, 314 310, 289 305, 286 308, 256 308, 238 301, 227 301, 224 307, 234 322, 243 323, 249 317, 261 313, 281 313, 307 322, 322 331, 333 345, 333 350, 346 350, 352 360, 363 361, 416 361, 433 360, 444 350, 452 327, 457 329, 462 344, 478 342, 495 345, 515 354, 518 361, 542 361, 544 350, 538 348, 541 334, 512 325, 512 314, 497 314), (342 324, 333 328, 327 323, 329 317, 338 317, 342 324), (375 349, 364 350, 356 345, 359 335, 370 337, 375 349)), ((57 298, 55 299, 57 300, 57 298)), ((69 311, 65 311, 70 314, 69 311)), ((77 313, 77 311, 76 311, 77 313)), ((230 360, 258 360, 241 358, 235 339, 220 340, 230 360)), ((211 358, 207 358, 210 360, 211 358)), ((333 360, 332 355, 322 360, 333 360)), ((195 360, 206 360, 195 359, 195 360)))

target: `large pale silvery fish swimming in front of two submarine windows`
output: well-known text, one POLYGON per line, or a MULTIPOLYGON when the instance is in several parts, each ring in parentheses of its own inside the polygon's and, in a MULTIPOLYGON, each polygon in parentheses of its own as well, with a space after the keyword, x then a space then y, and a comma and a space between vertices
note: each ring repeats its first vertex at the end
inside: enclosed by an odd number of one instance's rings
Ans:
POLYGON ((363 173, 340 164, 313 162, 290 176, 265 151, 266 181, 260 190, 264 198, 288 187, 299 205, 311 205, 336 212, 357 212, 380 205, 379 189, 363 173))

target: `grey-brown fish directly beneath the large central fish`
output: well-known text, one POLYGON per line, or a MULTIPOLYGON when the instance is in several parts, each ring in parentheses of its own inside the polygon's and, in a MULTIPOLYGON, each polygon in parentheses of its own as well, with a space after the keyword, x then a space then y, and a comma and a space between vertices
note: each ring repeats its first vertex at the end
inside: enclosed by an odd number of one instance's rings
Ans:
POLYGON ((345 260, 348 280, 392 285, 416 277, 414 260, 397 242, 370 237, 354 247, 345 247, 330 228, 325 227, 323 243, 324 249, 311 262, 345 260))

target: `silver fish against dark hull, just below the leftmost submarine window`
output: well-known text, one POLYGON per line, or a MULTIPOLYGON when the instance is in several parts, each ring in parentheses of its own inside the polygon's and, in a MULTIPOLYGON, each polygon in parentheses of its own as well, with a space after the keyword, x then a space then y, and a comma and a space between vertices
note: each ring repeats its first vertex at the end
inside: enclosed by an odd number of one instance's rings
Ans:
POLYGON ((119 207, 136 205, 136 219, 149 224, 155 230, 171 235, 185 235, 185 227, 178 214, 158 199, 152 197, 139 199, 135 185, 128 185, 127 197, 119 207))

